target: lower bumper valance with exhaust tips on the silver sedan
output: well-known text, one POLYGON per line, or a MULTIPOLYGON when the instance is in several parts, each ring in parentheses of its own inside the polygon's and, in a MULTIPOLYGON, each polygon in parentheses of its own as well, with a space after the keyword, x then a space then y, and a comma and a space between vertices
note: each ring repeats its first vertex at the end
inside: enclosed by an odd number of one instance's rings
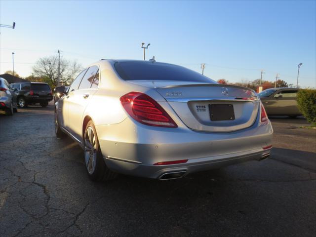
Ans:
POLYGON ((197 171, 220 168, 249 160, 261 160, 269 157, 269 155, 270 149, 256 149, 215 157, 189 159, 186 163, 172 165, 146 165, 111 157, 104 159, 110 169, 118 171, 119 173, 153 179, 162 179, 163 175, 166 173, 181 172, 182 175, 186 175, 197 171))

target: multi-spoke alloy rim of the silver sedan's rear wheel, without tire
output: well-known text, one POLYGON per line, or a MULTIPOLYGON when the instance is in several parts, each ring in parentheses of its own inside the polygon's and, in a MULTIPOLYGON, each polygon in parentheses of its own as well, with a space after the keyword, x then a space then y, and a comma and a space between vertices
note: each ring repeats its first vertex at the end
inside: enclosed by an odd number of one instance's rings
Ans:
POLYGON ((89 174, 93 174, 97 161, 96 139, 92 127, 87 127, 84 135, 84 161, 89 174))

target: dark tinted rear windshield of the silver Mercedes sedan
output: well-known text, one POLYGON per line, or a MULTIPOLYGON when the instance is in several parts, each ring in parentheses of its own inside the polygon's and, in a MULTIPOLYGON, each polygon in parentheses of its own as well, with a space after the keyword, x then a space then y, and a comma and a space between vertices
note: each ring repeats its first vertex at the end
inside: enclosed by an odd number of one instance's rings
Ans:
POLYGON ((118 75, 124 80, 182 80, 216 83, 200 73, 190 69, 149 61, 126 61, 114 64, 118 75))

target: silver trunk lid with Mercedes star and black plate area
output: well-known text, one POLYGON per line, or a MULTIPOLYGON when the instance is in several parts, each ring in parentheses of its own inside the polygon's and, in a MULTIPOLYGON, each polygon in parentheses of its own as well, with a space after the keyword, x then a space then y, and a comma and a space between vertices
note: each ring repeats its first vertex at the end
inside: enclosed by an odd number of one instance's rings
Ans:
POLYGON ((170 80, 134 80, 151 87, 170 104, 189 128, 206 132, 232 132, 251 126, 260 100, 246 87, 170 80))

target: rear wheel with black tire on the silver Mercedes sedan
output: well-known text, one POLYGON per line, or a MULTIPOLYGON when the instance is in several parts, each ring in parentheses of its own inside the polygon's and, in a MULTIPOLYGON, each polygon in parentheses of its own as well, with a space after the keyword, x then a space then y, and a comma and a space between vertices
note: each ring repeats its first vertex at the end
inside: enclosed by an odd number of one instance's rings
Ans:
POLYGON ((84 129, 83 147, 85 167, 92 181, 105 181, 116 178, 117 173, 110 170, 105 164, 98 136, 91 120, 84 129))

